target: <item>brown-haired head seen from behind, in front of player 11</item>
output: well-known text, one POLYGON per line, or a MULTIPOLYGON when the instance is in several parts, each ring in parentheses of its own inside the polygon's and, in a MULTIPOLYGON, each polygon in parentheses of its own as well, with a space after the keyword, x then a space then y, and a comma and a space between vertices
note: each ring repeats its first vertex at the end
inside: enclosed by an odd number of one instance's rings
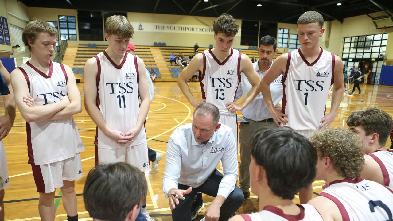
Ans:
POLYGON ((83 201, 93 220, 134 221, 146 193, 145 176, 135 166, 125 162, 99 164, 87 175, 83 201))

